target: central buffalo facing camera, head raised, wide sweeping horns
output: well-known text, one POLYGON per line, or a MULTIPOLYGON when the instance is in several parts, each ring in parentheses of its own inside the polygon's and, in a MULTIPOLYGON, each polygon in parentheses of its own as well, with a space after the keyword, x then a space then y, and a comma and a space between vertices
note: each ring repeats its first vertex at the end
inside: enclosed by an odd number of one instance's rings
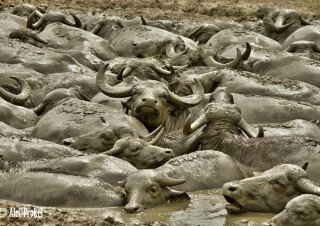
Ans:
POLYGON ((182 128, 187 115, 181 108, 197 105, 203 98, 203 87, 198 80, 190 86, 192 95, 178 96, 162 82, 149 80, 137 84, 110 86, 105 79, 107 64, 100 68, 96 81, 102 93, 110 97, 130 97, 125 103, 130 114, 140 120, 149 131, 165 125, 167 131, 182 128), (179 112, 180 111, 180 112, 179 112))

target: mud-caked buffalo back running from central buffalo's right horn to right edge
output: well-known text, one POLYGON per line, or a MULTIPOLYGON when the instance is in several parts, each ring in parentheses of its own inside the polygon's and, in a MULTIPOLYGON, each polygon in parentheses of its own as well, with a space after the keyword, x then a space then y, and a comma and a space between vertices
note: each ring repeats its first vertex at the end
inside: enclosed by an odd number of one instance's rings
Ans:
POLYGON ((226 87, 232 93, 280 97, 320 104, 320 88, 302 81, 214 67, 190 67, 177 71, 177 75, 170 87, 179 95, 189 94, 187 86, 197 78, 205 93, 211 93, 217 87, 226 87))

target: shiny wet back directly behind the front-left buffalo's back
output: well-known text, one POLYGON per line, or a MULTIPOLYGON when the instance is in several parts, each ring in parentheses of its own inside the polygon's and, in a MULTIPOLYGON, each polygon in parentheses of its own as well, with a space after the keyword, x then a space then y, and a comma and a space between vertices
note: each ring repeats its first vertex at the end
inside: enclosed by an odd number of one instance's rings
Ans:
POLYGON ((61 173, 98 178, 112 186, 117 186, 119 180, 124 180, 130 173, 137 171, 127 161, 105 154, 28 161, 24 162, 22 167, 29 172, 61 173))

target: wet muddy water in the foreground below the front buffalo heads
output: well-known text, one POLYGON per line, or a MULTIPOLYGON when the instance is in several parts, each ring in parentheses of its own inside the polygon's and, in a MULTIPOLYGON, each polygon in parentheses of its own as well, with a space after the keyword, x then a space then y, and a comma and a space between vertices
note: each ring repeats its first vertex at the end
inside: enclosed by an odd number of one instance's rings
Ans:
POLYGON ((270 213, 229 215, 224 208, 226 201, 221 195, 221 189, 188 194, 190 202, 161 205, 137 214, 128 214, 121 207, 82 210, 91 216, 114 217, 125 225, 161 222, 170 226, 260 226, 274 216, 270 213))

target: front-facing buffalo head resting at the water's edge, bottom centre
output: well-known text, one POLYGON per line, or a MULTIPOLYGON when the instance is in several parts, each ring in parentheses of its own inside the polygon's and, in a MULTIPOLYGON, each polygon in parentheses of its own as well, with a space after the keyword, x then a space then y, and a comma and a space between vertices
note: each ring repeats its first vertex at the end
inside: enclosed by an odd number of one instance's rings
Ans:
POLYGON ((186 193, 169 188, 183 183, 185 183, 184 179, 172 178, 167 172, 155 170, 134 172, 124 181, 119 182, 119 185, 125 189, 127 199, 124 209, 128 213, 138 213, 177 198, 188 200, 190 198, 186 193))

